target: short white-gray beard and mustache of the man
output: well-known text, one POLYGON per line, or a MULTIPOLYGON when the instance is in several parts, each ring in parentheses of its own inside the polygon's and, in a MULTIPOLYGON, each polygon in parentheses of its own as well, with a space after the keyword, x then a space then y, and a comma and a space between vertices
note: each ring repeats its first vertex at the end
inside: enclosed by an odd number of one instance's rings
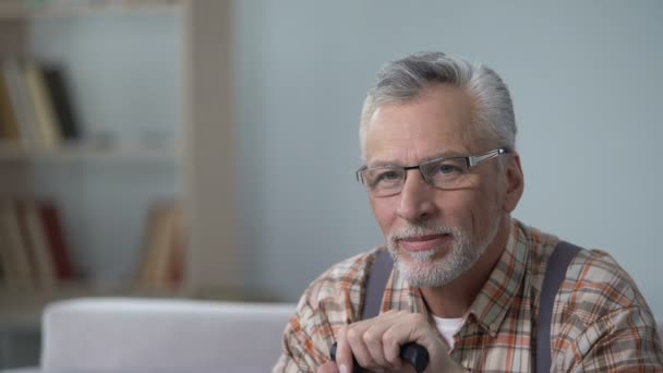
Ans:
POLYGON ((429 221, 408 225, 403 229, 387 237, 387 249, 394 258, 396 269, 400 272, 411 286, 419 288, 439 287, 449 284, 458 276, 469 270, 483 255, 493 242, 501 225, 501 217, 491 219, 494 224, 489 227, 485 237, 472 237, 471 232, 460 227, 434 226, 429 221), (451 251, 443 260, 434 260, 441 248, 410 252, 403 258, 397 241, 403 238, 431 234, 450 234, 451 251))

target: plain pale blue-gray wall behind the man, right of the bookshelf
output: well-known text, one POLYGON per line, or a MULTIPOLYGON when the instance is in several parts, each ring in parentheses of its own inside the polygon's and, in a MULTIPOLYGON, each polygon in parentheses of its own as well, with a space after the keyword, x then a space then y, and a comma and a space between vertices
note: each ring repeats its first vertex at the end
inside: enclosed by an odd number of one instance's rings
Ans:
POLYGON ((294 300, 382 242, 353 171, 366 88, 442 50, 507 82, 527 188, 515 216, 630 272, 663 316, 663 2, 237 1, 240 232, 248 288, 294 300))

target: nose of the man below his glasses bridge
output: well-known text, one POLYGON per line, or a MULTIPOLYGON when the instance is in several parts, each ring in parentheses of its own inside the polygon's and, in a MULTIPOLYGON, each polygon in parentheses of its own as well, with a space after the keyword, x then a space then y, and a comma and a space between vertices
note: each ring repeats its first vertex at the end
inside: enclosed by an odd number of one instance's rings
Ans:
POLYGON ((424 180, 419 169, 408 170, 396 214, 408 221, 430 217, 435 210, 434 193, 435 189, 424 180))

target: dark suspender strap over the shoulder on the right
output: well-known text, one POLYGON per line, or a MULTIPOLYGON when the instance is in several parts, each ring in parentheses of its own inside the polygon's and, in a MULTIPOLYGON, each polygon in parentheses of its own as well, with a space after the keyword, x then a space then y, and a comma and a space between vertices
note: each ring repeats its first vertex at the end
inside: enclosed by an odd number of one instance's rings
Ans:
POLYGON ((566 269, 571 260, 581 249, 572 243, 559 241, 547 260, 545 277, 539 296, 539 315, 537 316, 537 372, 551 371, 552 335, 551 323, 553 322, 553 308, 555 296, 559 286, 566 277, 566 269))

